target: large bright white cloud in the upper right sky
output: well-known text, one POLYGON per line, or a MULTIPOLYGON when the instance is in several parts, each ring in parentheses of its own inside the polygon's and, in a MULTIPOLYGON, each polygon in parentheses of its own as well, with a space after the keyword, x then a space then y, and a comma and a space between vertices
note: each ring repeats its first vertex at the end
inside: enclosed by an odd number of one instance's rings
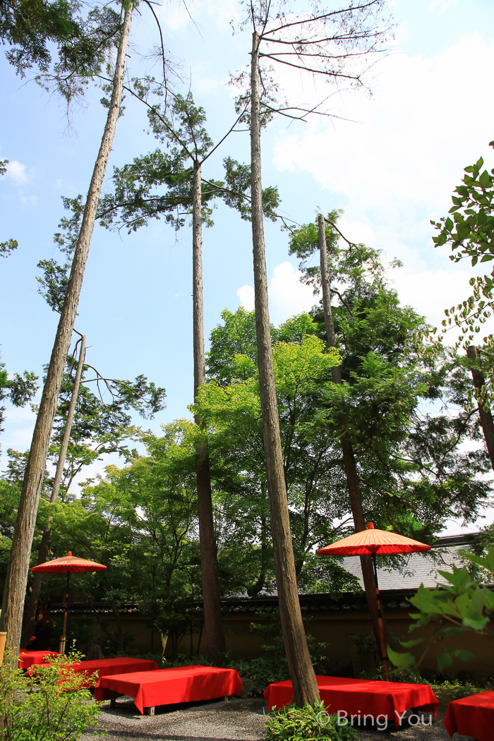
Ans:
MULTIPOLYGON (((312 173, 348 199, 349 219, 369 220, 405 242, 427 239, 432 253, 429 219, 450 207, 462 168, 480 154, 493 159, 494 98, 486 94, 493 66, 494 43, 478 32, 431 58, 393 53, 375 67, 373 98, 333 97, 333 113, 356 123, 313 119, 304 132, 279 132, 275 165, 312 173)), ((301 91, 295 76, 292 85, 301 91)), ((308 84, 303 93, 321 97, 308 84)))

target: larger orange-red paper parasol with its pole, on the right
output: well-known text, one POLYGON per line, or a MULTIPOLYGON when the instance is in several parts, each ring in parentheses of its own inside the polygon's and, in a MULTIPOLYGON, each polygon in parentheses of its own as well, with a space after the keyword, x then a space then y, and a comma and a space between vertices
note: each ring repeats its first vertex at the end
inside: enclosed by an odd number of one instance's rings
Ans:
POLYGON ((354 533, 347 538, 337 540, 325 548, 319 548, 316 554, 320 556, 373 556, 375 594, 378 598, 379 634, 381 636, 381 656, 384 676, 390 679, 389 659, 387 658, 386 642, 384 641, 384 626, 382 622, 381 599, 379 597, 378 570, 375 554, 412 554, 430 551, 430 545, 418 542, 404 535, 397 535, 386 530, 376 530, 373 522, 369 522, 367 530, 354 533))

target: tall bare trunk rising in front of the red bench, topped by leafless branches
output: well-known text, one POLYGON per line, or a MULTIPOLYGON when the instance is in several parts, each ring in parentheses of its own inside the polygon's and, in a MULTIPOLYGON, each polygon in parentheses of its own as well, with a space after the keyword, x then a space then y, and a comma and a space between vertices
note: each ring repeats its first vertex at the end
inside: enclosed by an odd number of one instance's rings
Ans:
POLYGON ((278 404, 273 371, 270 316, 267 305, 267 273, 261 185, 261 125, 259 121, 259 36, 253 33, 251 64, 250 152, 252 168, 252 233, 256 339, 262 430, 266 457, 267 489, 275 559, 276 588, 281 629, 296 705, 314 705, 319 700, 316 675, 310 660, 298 602, 295 559, 293 558, 287 488, 279 431, 278 404))

